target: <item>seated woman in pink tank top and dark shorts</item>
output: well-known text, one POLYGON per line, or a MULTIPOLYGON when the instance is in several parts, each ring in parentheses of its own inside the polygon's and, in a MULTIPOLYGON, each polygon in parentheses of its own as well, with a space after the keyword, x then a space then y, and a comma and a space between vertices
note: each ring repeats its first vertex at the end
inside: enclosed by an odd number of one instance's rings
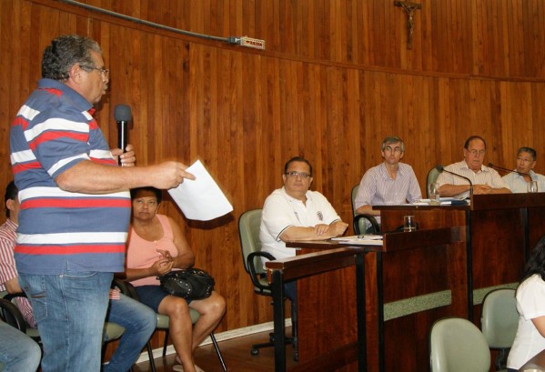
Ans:
POLYGON ((140 301, 157 313, 169 317, 169 331, 182 364, 174 370, 202 371, 195 366, 193 353, 223 317, 226 302, 216 291, 208 298, 187 301, 164 292, 156 276, 173 269, 195 264, 195 255, 176 222, 157 214, 162 200, 161 190, 142 187, 131 190, 133 203, 132 227, 127 241, 126 276, 136 287, 140 301), (193 327, 189 307, 200 317, 193 327))

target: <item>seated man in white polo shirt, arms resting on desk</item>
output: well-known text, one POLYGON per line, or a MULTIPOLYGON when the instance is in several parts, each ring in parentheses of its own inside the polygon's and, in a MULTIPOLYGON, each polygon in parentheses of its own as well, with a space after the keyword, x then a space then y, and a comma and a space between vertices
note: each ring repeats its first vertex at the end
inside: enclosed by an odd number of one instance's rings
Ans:
MULTIPOLYGON (((303 157, 291 158, 284 166, 284 186, 265 200, 259 228, 262 250, 276 259, 296 256, 291 240, 326 240, 344 234, 343 222, 328 199, 310 191, 312 166, 303 157)), ((295 284, 286 286, 286 297, 295 298, 295 284)))

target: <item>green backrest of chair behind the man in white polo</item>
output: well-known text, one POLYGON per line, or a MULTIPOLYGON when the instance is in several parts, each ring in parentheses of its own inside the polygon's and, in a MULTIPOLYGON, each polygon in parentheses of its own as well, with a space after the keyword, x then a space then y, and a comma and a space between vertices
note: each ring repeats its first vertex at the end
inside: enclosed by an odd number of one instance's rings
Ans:
MULTIPOLYGON (((247 263, 247 256, 254 252, 261 251, 261 241, 259 240, 259 226, 261 226, 261 209, 252 209, 244 212, 238 219, 238 237, 240 237, 240 248, 242 249, 242 258, 244 269, 250 274, 247 263)), ((265 273, 265 268, 261 259, 256 257, 254 260, 256 273, 265 273)))

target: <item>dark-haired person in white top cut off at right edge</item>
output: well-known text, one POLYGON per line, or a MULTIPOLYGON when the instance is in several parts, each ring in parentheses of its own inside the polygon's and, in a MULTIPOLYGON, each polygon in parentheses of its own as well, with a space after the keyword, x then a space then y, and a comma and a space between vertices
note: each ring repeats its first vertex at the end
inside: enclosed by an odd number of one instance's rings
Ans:
POLYGON ((512 372, 545 349, 545 236, 531 251, 515 297, 519 327, 507 358, 512 372))

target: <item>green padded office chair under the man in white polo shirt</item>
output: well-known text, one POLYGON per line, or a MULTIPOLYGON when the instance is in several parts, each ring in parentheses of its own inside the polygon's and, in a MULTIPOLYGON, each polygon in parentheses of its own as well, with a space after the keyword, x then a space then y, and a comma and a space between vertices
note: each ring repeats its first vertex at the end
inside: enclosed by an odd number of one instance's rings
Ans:
MULTIPOLYGON (((257 295, 272 298, 272 287, 267 282, 267 274, 261 262, 261 257, 265 257, 271 261, 275 257, 268 252, 261 251, 259 226, 261 226, 261 209, 248 210, 238 218, 238 237, 240 238, 240 247, 242 249, 242 263, 254 285, 254 292, 257 295)), ((291 330, 292 335, 291 337, 286 337, 286 343, 292 344, 293 359, 297 362, 299 358, 297 300, 291 300, 291 330)), ((250 352, 255 356, 259 354, 259 348, 274 347, 274 345, 274 337, 271 333, 269 334, 269 342, 252 345, 250 352)))

